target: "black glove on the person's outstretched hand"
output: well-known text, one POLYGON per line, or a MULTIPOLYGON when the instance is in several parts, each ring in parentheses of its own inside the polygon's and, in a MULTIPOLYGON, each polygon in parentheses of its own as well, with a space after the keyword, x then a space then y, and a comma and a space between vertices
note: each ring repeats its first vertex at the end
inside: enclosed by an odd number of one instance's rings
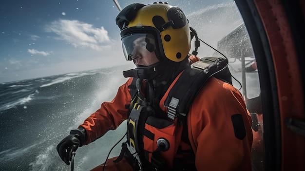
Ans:
POLYGON ((66 136, 57 145, 57 152, 62 161, 70 165, 72 152, 75 152, 78 147, 81 147, 86 140, 86 130, 82 127, 77 130, 71 130, 70 135, 66 136))

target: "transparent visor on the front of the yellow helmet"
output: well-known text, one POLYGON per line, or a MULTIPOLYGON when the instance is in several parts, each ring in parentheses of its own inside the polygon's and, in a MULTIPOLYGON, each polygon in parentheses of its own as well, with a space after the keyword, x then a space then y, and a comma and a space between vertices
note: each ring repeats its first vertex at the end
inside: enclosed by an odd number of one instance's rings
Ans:
POLYGON ((132 60, 137 51, 153 52, 156 49, 155 39, 148 33, 126 35, 122 38, 122 46, 126 60, 132 60))

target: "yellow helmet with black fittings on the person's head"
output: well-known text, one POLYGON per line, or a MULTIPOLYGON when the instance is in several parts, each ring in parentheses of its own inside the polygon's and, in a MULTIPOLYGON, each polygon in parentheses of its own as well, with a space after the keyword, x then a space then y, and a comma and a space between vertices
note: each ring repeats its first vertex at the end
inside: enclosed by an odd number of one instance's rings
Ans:
MULTIPOLYGON (((156 42, 155 52, 159 60, 167 57, 180 62, 190 52, 191 33, 188 19, 180 8, 166 2, 154 2, 149 5, 133 3, 125 7, 115 21, 121 29, 122 40, 138 33, 153 35, 156 42)), ((123 44, 123 48, 124 46, 129 45, 123 44)), ((128 50, 124 50, 124 54, 127 60, 131 60, 128 57, 128 50)))

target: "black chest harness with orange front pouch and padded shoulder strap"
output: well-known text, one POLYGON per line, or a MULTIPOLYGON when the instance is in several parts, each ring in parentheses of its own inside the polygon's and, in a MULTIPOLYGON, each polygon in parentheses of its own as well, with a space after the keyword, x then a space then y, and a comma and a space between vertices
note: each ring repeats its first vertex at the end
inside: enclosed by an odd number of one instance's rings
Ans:
POLYGON ((158 117, 156 110, 141 93, 142 79, 133 78, 129 86, 132 100, 127 121, 127 141, 122 144, 122 151, 114 162, 125 157, 136 171, 193 170, 194 157, 191 157, 191 164, 188 164, 190 157, 183 158, 182 154, 179 158, 179 151, 183 153, 179 145, 183 137, 188 141, 185 135, 186 116, 191 103, 210 76, 232 84, 228 60, 205 57, 185 69, 165 94, 163 105, 167 108, 164 113, 167 117, 163 118, 158 117))

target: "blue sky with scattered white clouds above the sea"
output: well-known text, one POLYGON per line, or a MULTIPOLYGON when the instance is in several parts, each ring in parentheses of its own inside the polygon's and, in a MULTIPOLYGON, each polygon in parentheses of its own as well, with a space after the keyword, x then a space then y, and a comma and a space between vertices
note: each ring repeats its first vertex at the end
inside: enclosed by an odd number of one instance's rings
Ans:
MULTIPOLYGON (((118 2, 124 8, 153 1, 118 2)), ((233 3, 167 2, 182 8, 187 17, 213 5, 233 3)), ((0 0, 0 82, 126 64, 115 24, 118 12, 113 0, 0 0)))

